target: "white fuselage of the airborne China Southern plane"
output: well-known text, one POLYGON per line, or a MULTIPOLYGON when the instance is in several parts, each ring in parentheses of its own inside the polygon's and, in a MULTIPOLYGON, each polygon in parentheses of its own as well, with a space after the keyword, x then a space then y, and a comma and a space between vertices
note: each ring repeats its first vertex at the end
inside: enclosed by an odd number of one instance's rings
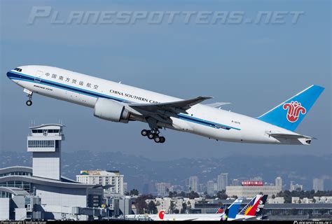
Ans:
MULTIPOLYGON (((98 98, 106 98, 123 104, 132 102, 155 104, 181 100, 53 66, 20 66, 19 68, 22 71, 11 70, 8 71, 7 76, 26 90, 90 108, 95 107, 98 98)), ((186 112, 188 114, 180 113, 178 118, 172 117, 172 125, 159 122, 158 126, 222 141, 300 144, 270 137, 268 132, 296 133, 249 116, 204 104, 196 104, 186 112)), ((140 116, 133 116, 132 120, 145 122, 140 116)))

